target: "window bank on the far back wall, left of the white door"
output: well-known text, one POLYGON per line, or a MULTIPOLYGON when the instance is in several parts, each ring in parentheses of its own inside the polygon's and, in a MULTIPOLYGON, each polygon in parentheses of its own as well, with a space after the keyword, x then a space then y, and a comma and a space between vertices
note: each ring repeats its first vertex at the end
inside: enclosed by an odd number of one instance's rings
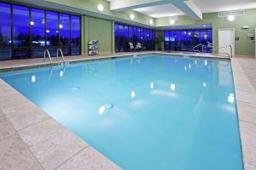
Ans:
MULTIPOLYGON (((166 51, 192 52, 197 44, 203 44, 203 53, 212 53, 212 30, 165 31, 166 51)), ((196 48, 201 51, 201 46, 196 48)))

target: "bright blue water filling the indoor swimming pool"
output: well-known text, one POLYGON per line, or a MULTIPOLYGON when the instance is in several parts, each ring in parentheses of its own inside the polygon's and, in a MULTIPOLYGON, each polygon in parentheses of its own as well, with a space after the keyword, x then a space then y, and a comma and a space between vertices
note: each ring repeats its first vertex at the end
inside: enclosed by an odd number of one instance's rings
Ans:
POLYGON ((127 170, 241 170, 230 62, 148 54, 1 76, 127 170))

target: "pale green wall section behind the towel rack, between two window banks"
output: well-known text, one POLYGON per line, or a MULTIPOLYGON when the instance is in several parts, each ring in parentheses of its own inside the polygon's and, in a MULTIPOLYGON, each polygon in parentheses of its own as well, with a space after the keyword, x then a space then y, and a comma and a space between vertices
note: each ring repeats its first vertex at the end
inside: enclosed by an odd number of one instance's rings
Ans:
POLYGON ((100 54, 113 53, 113 21, 82 17, 82 54, 88 54, 88 42, 99 41, 100 54))

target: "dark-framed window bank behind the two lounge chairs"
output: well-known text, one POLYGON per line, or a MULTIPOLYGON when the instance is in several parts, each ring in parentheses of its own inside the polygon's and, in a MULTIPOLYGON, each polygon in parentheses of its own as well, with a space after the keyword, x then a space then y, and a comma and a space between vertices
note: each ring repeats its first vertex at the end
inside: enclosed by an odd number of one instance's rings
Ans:
POLYGON ((137 26, 127 26, 119 23, 114 25, 114 44, 115 52, 130 51, 129 42, 132 42, 134 47, 137 42, 140 42, 144 49, 154 50, 154 30, 140 28, 137 26))

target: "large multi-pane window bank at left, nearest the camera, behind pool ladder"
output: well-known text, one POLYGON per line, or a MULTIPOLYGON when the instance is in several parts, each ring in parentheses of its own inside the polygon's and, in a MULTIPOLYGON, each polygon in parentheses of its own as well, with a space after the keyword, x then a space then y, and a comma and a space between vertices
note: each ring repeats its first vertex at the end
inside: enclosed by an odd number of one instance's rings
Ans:
POLYGON ((80 16, 0 3, 0 60, 81 54, 80 16))

